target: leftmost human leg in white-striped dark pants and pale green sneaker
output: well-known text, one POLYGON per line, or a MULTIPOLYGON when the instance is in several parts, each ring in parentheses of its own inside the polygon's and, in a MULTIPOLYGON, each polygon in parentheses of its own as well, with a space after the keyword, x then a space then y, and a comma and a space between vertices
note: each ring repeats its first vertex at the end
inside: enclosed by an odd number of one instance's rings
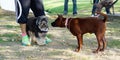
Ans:
POLYGON ((31 42, 26 34, 26 23, 30 8, 30 0, 15 0, 17 23, 20 24, 22 32, 22 44, 30 45, 31 42))

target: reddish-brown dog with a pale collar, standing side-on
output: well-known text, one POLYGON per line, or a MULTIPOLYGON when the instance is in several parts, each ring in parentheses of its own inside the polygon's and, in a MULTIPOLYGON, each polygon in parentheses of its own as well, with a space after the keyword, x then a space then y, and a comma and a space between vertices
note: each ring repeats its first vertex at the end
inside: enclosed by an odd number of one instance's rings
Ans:
POLYGON ((70 32, 77 37, 78 47, 75 49, 79 52, 83 45, 83 34, 94 33, 97 37, 98 48, 94 51, 104 51, 106 47, 105 31, 106 31, 106 20, 107 15, 99 13, 104 16, 104 19, 96 17, 86 18, 64 18, 62 15, 58 15, 58 18, 51 23, 53 27, 67 27, 70 32))

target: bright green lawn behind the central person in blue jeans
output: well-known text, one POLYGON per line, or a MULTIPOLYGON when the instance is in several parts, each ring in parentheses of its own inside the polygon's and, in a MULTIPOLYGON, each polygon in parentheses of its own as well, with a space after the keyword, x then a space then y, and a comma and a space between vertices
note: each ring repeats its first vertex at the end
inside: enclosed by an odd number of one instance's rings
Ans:
MULTIPOLYGON (((64 1, 62 0, 52 0, 51 2, 46 2, 47 0, 44 0, 44 5, 45 5, 45 10, 51 14, 56 14, 56 13, 60 13, 62 14, 63 13, 63 9, 64 9, 64 1), (54 3, 54 4, 53 4, 54 3)), ((69 8, 69 13, 72 13, 72 1, 69 1, 68 3, 68 8, 69 8)), ((77 2, 77 7, 78 7, 78 11, 81 11, 81 10, 86 10, 88 9, 88 4, 90 6, 92 6, 92 4, 90 4, 89 1, 78 1, 77 2), (84 8, 84 9, 83 9, 84 8)), ((90 8, 91 9, 91 8, 90 8)))

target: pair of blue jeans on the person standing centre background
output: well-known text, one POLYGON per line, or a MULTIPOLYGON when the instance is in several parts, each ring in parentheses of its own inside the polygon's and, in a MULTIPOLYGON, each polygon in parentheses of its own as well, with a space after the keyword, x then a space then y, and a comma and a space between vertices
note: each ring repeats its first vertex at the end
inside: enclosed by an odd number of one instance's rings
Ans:
MULTIPOLYGON (((65 2, 64 2, 64 14, 68 13, 68 1, 69 0, 65 0, 65 2)), ((73 14, 77 14, 76 0, 72 0, 72 2, 73 2, 73 14)))

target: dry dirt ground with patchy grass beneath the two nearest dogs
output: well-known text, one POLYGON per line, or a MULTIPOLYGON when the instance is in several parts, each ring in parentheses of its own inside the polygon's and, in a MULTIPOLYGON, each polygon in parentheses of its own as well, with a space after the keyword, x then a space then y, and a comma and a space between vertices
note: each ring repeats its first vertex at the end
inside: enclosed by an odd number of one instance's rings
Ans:
MULTIPOLYGON (((7 18, 7 17, 6 17, 7 18)), ((120 29, 119 29, 120 31, 120 29)), ((120 40, 119 36, 109 35, 106 39, 120 40)), ((104 52, 92 53, 97 48, 94 34, 84 35, 84 45, 80 52, 74 52, 77 40, 66 28, 50 26, 48 35, 52 40, 46 46, 22 46, 20 28, 14 20, 0 20, 0 60, 120 60, 120 48, 107 46, 104 52), (17 28, 16 28, 17 27, 17 28), (13 34, 5 37, 4 34, 13 34)), ((112 43, 108 43, 112 44, 112 43)), ((120 45, 119 45, 120 46, 120 45)))

